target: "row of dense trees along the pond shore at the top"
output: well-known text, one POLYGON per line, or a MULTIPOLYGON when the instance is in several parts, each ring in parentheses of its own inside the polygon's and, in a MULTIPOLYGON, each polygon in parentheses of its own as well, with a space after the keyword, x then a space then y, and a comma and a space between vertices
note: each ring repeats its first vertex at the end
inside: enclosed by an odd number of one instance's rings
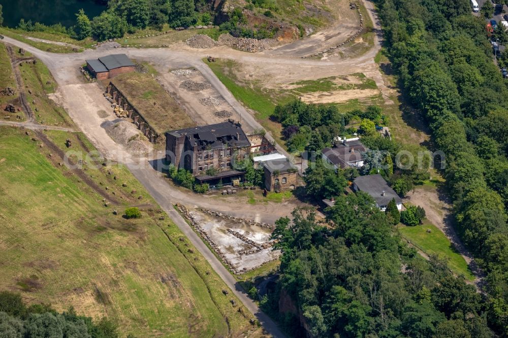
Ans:
MULTIPOLYGON (((248 25, 243 11, 245 9, 271 8, 277 9, 269 1, 248 2, 245 8, 233 8, 228 13, 218 13, 220 8, 212 8, 212 2, 205 0, 109 0, 108 9, 101 15, 89 18, 83 10, 76 13, 76 23, 71 27, 61 24, 46 26, 21 19, 17 28, 25 31, 47 31, 65 33, 74 39, 83 40, 92 37, 99 41, 122 38, 126 33, 135 33, 141 29, 152 28, 162 30, 165 25, 172 28, 190 27, 194 25, 219 25, 214 33, 229 32, 234 37, 273 38, 277 27, 268 28, 266 24, 248 25)), ((273 17, 270 10, 265 16, 273 17)))

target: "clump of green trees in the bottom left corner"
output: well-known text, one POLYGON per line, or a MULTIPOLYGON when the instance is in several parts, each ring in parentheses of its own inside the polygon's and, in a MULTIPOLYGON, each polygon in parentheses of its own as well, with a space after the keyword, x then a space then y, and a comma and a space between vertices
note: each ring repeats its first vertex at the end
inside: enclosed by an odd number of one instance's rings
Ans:
MULTIPOLYGON (((71 308, 58 313, 49 304, 27 306, 20 294, 0 292, 0 337, 118 338, 116 324, 106 318, 93 322, 71 308)), ((128 338, 134 336, 129 335, 128 338)))

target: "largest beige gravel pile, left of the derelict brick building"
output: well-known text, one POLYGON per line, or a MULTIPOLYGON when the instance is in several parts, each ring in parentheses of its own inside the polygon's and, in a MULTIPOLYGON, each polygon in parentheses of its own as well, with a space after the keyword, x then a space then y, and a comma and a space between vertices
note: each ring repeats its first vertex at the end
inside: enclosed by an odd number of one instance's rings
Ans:
POLYGON ((125 146, 131 154, 142 155, 150 150, 148 140, 145 141, 141 131, 129 121, 120 121, 105 129, 113 141, 125 146))

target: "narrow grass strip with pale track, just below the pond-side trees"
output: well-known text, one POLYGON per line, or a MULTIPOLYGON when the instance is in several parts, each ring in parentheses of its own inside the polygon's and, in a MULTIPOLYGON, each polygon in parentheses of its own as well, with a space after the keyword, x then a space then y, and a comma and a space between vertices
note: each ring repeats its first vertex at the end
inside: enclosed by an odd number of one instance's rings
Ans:
POLYGON ((0 27, 0 35, 16 39, 37 49, 52 53, 77 53, 86 48, 92 48, 95 43, 91 38, 84 40, 72 39, 63 33, 50 33, 43 31, 25 31, 17 28, 0 27), (29 38, 51 41, 34 41, 29 38))

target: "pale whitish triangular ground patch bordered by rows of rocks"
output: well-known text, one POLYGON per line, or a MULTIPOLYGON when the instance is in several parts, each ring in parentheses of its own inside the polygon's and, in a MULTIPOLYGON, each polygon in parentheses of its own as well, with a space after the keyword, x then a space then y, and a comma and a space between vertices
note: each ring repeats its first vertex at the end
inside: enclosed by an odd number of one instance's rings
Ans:
POLYGON ((205 215, 197 210, 190 211, 189 213, 195 217, 203 230, 210 236, 213 243, 218 246, 220 252, 238 270, 245 269, 249 271, 263 263, 276 259, 280 255, 279 251, 272 251, 271 248, 263 249, 257 253, 241 255, 239 251, 247 249, 249 246, 226 230, 232 229, 243 234, 253 242, 264 244, 270 240, 271 232, 268 229, 246 225, 245 223, 226 221, 205 215))

